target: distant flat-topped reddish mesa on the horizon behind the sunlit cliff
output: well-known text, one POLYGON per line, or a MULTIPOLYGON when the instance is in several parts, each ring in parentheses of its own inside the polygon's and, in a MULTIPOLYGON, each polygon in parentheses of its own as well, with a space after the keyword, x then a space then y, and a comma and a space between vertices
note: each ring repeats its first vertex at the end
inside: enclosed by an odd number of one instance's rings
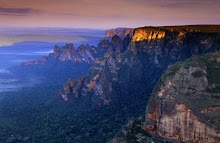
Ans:
POLYGON ((116 29, 110 29, 106 31, 105 37, 113 37, 113 36, 119 36, 121 38, 126 37, 127 35, 132 37, 133 35, 133 29, 132 28, 116 28, 116 29))

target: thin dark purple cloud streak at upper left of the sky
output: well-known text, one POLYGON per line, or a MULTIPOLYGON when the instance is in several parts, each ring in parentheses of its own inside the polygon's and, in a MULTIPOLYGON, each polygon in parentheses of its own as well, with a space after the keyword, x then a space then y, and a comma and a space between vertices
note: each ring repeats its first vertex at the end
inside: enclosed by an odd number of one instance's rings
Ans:
POLYGON ((0 14, 1 15, 29 15, 32 13, 38 13, 39 10, 32 9, 32 8, 5 8, 0 7, 0 14))

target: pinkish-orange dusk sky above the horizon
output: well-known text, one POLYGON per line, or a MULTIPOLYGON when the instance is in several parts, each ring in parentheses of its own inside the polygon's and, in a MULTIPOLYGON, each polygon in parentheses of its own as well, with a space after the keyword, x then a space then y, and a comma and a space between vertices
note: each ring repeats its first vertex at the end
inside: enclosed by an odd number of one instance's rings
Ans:
POLYGON ((220 0, 0 0, 0 28, 190 24, 220 24, 220 0))

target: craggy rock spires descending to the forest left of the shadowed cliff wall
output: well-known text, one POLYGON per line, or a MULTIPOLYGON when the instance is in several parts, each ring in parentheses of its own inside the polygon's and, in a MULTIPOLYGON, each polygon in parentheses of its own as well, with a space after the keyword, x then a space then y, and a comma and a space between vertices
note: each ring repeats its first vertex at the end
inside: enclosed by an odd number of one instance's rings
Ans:
MULTIPOLYGON (((92 96, 94 102, 98 104, 108 104, 110 103, 112 82, 118 80, 117 74, 117 63, 120 63, 122 60, 121 54, 125 51, 125 46, 127 42, 131 40, 131 38, 125 37, 122 40, 118 36, 113 36, 111 42, 108 40, 102 40, 97 46, 97 53, 100 53, 102 49, 106 50, 103 58, 96 58, 90 70, 88 71, 88 75, 81 82, 81 90, 73 89, 73 93, 69 92, 71 87, 64 86, 64 89, 60 92, 61 97, 65 101, 69 101, 76 97, 87 96, 90 94, 97 95, 92 96), (109 71, 110 70, 110 71, 109 71), (109 77, 110 76, 110 77, 109 77), (102 79, 106 81, 102 81, 102 79), (112 79, 111 79, 112 78, 112 79), (104 89, 104 86, 109 87, 108 89, 104 89), (68 92, 66 92, 66 87, 68 92), (100 97, 101 95, 101 97, 100 97), (103 96, 102 96, 103 95, 103 96), (105 95, 105 96, 104 96, 105 95), (72 98, 73 97, 73 98, 72 98)), ((80 81, 80 79, 79 79, 80 81)))

